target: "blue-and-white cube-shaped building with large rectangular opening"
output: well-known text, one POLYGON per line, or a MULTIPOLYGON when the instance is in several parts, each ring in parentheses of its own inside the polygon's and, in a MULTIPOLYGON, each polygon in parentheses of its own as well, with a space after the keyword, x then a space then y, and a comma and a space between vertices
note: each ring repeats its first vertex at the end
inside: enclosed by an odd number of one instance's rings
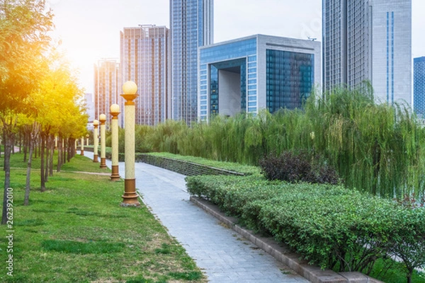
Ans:
POLYGON ((320 42, 252 35, 199 49, 198 117, 301 108, 321 78, 320 42))

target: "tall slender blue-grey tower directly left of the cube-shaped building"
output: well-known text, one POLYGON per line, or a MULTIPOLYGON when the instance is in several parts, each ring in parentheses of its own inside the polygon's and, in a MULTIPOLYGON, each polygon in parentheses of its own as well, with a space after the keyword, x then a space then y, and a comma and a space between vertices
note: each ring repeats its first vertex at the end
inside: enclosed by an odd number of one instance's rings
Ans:
POLYGON ((170 0, 171 115, 197 120, 198 47, 212 44, 213 0, 170 0))

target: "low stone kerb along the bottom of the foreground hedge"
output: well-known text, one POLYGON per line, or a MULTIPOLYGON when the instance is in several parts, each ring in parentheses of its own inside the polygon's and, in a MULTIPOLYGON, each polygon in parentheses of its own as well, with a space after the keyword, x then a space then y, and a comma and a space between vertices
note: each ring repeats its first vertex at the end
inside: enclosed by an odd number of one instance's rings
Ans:
POLYGON ((212 216, 215 216, 220 222, 225 224, 233 231, 239 233, 242 237, 254 243, 266 253, 282 262, 299 275, 312 283, 384 283, 378 279, 363 275, 361 272, 334 272, 332 270, 321 270, 320 267, 308 265, 305 260, 300 260, 301 256, 290 251, 288 246, 276 242, 271 237, 260 236, 253 231, 242 228, 237 225, 237 219, 232 216, 226 216, 220 211, 217 205, 200 197, 190 198, 191 202, 212 216))

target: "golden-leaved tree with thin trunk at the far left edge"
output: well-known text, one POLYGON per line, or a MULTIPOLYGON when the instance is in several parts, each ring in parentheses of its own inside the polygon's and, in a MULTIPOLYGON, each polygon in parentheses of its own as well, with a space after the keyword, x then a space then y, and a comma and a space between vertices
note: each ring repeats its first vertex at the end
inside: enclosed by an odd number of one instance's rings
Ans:
POLYGON ((0 1, 0 122, 4 131, 5 178, 1 224, 6 224, 6 189, 10 185, 11 135, 16 113, 37 87, 38 62, 49 45, 52 13, 43 0, 0 1))

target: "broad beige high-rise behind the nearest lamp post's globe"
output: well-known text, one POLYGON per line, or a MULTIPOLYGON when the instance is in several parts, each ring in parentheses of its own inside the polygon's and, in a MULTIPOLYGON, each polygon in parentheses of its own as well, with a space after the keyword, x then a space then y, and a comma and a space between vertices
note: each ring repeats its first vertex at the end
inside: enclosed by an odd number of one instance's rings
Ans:
MULTIPOLYGON (((171 116, 170 55, 169 29, 165 26, 139 25, 120 32, 120 84, 137 84, 136 124, 153 126, 171 116)), ((123 115, 120 121, 123 125, 123 115)))

